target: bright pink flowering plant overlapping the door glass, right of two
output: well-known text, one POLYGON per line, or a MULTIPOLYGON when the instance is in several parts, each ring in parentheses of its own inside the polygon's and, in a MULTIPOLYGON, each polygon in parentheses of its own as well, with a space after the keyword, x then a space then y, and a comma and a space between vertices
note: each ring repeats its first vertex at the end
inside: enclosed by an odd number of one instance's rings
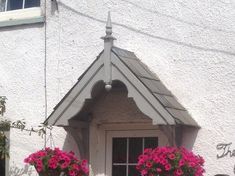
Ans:
POLYGON ((141 176, 202 176, 204 159, 181 147, 145 149, 139 156, 141 176))

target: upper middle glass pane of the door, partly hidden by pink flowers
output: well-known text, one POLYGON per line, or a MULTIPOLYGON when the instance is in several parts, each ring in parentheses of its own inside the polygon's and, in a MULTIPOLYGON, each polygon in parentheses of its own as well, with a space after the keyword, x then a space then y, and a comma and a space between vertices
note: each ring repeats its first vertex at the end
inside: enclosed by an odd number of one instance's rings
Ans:
POLYGON ((143 138, 129 138, 129 163, 137 163, 143 151, 143 138))

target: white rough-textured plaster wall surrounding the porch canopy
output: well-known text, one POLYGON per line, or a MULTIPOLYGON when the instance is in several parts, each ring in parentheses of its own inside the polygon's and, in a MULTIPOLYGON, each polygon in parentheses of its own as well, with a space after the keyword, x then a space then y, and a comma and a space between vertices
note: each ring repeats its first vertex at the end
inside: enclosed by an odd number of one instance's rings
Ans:
MULTIPOLYGON (((216 158, 218 143, 235 140, 233 0, 60 0, 58 11, 55 1, 48 1, 48 113, 103 49, 100 37, 109 10, 115 45, 134 51, 201 126, 190 145, 204 156, 206 175, 234 175, 235 157, 216 158)), ((44 27, 0 28, 6 116, 25 119, 29 126, 44 120, 44 27)), ((185 144, 191 133, 184 136, 185 144)), ((53 135, 63 147, 63 129, 53 135)), ((25 155, 40 147, 43 139, 37 135, 12 130, 10 168, 24 167, 25 155)))

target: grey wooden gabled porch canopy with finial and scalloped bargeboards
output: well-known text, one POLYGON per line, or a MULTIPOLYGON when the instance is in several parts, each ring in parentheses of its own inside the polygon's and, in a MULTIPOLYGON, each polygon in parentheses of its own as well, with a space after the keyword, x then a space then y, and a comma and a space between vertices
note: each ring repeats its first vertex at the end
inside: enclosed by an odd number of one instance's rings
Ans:
POLYGON ((92 99, 96 83, 102 81, 103 89, 112 89, 112 82, 122 82, 128 97, 133 98, 138 108, 154 125, 186 125, 198 127, 195 120, 177 101, 173 94, 163 85, 133 52, 113 46, 110 14, 106 25, 104 50, 78 79, 65 97, 57 104, 46 124, 69 126, 69 120, 75 117, 92 99))

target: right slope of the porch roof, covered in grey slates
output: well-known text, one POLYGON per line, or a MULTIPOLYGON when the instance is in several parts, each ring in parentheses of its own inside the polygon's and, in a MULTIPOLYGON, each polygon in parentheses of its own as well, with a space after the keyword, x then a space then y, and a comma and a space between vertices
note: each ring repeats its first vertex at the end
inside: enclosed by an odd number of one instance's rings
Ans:
POLYGON ((174 95, 164 86, 161 80, 143 64, 133 52, 113 47, 113 52, 141 81, 149 92, 159 101, 174 118, 176 124, 197 126, 195 120, 177 101, 174 95))

